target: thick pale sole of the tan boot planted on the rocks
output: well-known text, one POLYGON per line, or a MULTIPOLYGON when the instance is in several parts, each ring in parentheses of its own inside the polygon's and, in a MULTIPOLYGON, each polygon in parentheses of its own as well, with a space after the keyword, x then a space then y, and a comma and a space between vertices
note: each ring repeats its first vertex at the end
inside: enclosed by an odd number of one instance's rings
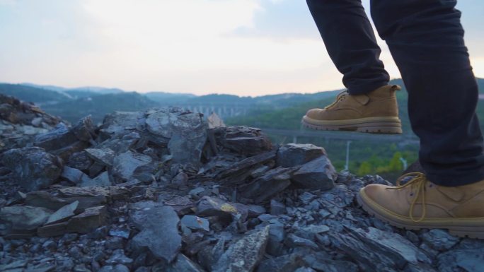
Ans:
POLYGON ((372 201, 363 189, 357 194, 357 201, 364 211, 376 218, 405 230, 446 229, 451 235, 484 239, 484 218, 424 218, 413 222, 408 216, 402 216, 372 201))

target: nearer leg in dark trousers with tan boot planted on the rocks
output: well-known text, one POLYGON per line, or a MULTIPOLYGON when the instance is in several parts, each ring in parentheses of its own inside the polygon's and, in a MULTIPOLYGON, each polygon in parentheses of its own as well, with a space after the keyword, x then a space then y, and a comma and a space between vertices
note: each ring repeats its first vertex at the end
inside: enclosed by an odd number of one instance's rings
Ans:
POLYGON ((372 0, 371 14, 408 90, 425 173, 359 191, 365 211, 396 227, 484 239, 478 88, 453 0, 372 0), (410 178, 408 180, 407 178, 410 178), (405 184, 401 184, 405 182, 405 184))

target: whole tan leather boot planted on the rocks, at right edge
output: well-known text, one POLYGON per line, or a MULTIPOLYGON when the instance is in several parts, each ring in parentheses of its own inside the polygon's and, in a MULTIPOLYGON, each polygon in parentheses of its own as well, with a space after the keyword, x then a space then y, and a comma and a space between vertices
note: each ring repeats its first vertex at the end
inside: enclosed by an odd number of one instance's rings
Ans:
POLYGON ((484 239, 484 180, 443 187, 422 173, 409 173, 398 179, 396 187, 369 184, 357 200, 365 211, 396 227, 442 228, 459 237, 484 239), (410 181, 401 185, 406 177, 410 181))

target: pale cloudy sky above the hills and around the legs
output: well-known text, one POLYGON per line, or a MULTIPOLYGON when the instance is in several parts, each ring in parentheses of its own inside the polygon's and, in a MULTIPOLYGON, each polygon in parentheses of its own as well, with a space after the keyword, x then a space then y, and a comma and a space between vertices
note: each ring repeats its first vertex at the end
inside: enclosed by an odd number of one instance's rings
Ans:
MULTIPOLYGON (((484 1, 457 7, 484 77, 484 1)), ((304 0, 0 0, 0 82, 256 96, 341 78, 304 0)))

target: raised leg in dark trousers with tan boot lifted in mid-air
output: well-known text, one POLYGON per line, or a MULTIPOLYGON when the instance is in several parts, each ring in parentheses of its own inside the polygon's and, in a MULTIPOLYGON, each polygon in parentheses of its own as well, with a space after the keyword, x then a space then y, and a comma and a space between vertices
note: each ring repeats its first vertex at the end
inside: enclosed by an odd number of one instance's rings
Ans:
POLYGON ((331 105, 306 112, 302 124, 311 129, 401 134, 395 95, 400 88, 388 85, 381 49, 361 0, 307 3, 347 91, 331 105))

